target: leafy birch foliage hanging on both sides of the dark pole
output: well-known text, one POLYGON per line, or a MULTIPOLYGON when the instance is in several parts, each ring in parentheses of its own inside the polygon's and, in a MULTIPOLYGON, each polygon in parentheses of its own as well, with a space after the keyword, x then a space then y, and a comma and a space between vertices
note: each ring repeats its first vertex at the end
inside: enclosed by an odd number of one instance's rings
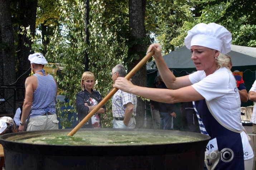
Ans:
MULTIPOLYGON (((108 22, 115 17, 104 17, 107 9, 101 1, 90 1, 90 44, 86 44, 84 6, 81 0, 60 0, 58 11, 55 13, 59 14, 56 17, 60 17, 59 27, 54 27, 53 36, 47 37, 50 40, 45 55, 48 62, 64 65, 64 74, 54 76, 58 88, 62 90, 61 95, 65 95, 69 100, 68 103, 57 104, 57 108, 69 108, 59 109, 62 128, 71 127, 72 121, 67 119, 68 114, 76 113, 76 93, 81 91, 85 51, 88 52, 90 60, 89 71, 95 74, 95 89, 102 97, 105 97, 112 88, 111 69, 117 63, 121 63, 124 59, 123 54, 127 53, 126 39, 123 37, 127 28, 121 24, 120 18, 119 24, 108 22)), ((40 45, 33 47, 40 48, 40 45)), ((102 115, 102 127, 109 128, 112 127, 110 101, 106 103, 106 108, 106 113, 102 115)))

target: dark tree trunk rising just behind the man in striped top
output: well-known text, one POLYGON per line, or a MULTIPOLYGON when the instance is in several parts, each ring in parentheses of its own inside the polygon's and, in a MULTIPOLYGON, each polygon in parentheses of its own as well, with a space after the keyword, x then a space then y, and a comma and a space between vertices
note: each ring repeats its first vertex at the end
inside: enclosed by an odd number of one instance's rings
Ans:
MULTIPOLYGON (((30 26, 30 34, 34 37, 35 35, 35 20, 37 14, 37 0, 20 0, 19 9, 21 12, 19 14, 19 19, 21 21, 20 26, 28 27, 30 26)), ((20 29, 21 31, 21 29, 20 29)), ((28 60, 28 56, 33 52, 30 52, 32 41, 29 40, 30 37, 26 37, 26 34, 19 34, 18 40, 18 63, 17 63, 17 77, 20 77, 16 84, 22 85, 24 87, 25 79, 30 74, 30 61, 28 60), (28 46, 25 46, 28 45, 28 46)))

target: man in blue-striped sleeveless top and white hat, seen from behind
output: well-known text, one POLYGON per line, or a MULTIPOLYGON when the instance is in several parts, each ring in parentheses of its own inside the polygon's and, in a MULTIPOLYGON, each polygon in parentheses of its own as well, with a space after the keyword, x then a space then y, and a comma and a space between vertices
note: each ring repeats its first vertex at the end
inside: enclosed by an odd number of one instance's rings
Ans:
POLYGON ((44 71, 47 60, 42 53, 29 55, 32 76, 25 81, 25 99, 20 119, 19 132, 58 129, 55 100, 57 83, 44 71))

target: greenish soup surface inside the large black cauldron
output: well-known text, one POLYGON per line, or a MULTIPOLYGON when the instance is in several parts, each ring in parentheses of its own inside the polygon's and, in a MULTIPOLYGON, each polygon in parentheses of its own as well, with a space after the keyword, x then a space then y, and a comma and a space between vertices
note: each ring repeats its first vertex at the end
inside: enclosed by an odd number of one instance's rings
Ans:
POLYGON ((199 138, 177 134, 141 133, 125 131, 86 131, 74 136, 67 133, 42 134, 33 138, 15 140, 21 143, 47 145, 151 145, 198 141, 199 138))

